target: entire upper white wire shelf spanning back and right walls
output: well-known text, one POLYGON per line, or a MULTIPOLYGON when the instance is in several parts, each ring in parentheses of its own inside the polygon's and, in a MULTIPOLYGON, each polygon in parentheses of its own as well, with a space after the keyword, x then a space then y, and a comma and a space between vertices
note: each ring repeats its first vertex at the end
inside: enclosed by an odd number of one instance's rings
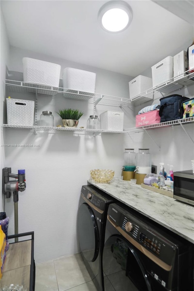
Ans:
POLYGON ((157 100, 176 90, 194 85, 194 72, 186 71, 179 76, 167 80, 165 83, 150 88, 132 99, 121 98, 117 96, 104 95, 99 93, 82 92, 77 90, 66 89, 62 87, 52 87, 48 85, 25 83, 22 81, 5 80, 5 85, 9 92, 29 93, 38 95, 62 96, 68 99, 84 100, 92 102, 95 105, 112 105, 119 107, 139 106, 142 103, 151 100, 157 100))

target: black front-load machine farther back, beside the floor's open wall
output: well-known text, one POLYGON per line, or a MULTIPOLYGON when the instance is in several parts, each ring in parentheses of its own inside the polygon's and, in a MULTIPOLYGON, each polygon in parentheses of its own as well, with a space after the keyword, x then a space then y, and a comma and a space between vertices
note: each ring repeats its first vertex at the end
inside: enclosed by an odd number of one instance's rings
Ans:
POLYGON ((102 254, 105 224, 114 200, 93 185, 82 186, 77 216, 80 252, 96 289, 102 291, 102 254))

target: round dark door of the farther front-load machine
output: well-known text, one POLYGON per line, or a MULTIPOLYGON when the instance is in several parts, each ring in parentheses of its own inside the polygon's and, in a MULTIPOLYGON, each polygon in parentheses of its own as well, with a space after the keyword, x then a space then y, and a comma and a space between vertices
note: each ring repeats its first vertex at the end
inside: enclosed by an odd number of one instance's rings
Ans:
POLYGON ((82 254, 94 262, 99 253, 99 229, 92 208, 86 203, 78 209, 77 232, 82 254))

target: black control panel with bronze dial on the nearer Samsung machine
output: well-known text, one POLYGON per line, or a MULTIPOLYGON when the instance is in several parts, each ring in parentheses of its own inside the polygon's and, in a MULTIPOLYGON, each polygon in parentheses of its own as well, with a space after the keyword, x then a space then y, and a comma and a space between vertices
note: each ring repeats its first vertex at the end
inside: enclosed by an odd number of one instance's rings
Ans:
MULTIPOLYGON (((173 241, 169 241, 166 237, 162 236, 160 232, 143 222, 134 213, 130 213, 120 207, 118 204, 109 205, 108 209, 109 219, 112 220, 113 224, 117 225, 115 227, 120 233, 123 231, 129 235, 133 240, 135 240, 134 245, 139 243, 144 248, 148 249, 159 259, 167 264, 171 265, 177 250, 176 244, 173 241)), ((127 239, 128 236, 124 235, 127 239)), ((133 243, 133 240, 129 242, 133 243)))

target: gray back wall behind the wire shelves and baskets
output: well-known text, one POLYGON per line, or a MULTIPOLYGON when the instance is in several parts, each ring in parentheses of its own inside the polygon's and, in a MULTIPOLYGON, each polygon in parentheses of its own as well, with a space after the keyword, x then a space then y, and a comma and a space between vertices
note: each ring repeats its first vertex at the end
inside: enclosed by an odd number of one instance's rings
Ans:
MULTIPOLYGON (((96 93, 129 97, 130 76, 105 71, 79 63, 57 59, 18 48, 10 48, 9 79, 22 78, 22 58, 31 57, 96 73, 96 93), (18 72, 18 73, 15 73, 18 72)), ((9 92, 8 96, 34 100, 27 93, 9 92)), ((61 124, 56 111, 64 107, 84 111, 79 126, 86 127, 93 104, 63 97, 38 96, 38 119, 43 110, 52 111, 55 125, 61 124)), ((124 128, 134 126, 133 109, 97 105, 96 113, 106 110, 124 111, 124 128)), ((4 116, 6 120, 6 116, 4 116)), ((42 262, 62 255, 79 252, 76 238, 76 218, 79 196, 83 184, 90 178, 90 169, 115 170, 121 175, 124 146, 132 145, 128 134, 79 134, 73 132, 38 132, 4 128, 6 144, 39 144, 39 147, 8 147, 5 165, 26 170, 26 190, 19 193, 19 232, 35 232, 35 261, 42 262), (126 137, 125 137, 126 135, 126 137)), ((14 232, 12 197, 6 199, 5 209, 10 217, 9 233, 14 232)))

